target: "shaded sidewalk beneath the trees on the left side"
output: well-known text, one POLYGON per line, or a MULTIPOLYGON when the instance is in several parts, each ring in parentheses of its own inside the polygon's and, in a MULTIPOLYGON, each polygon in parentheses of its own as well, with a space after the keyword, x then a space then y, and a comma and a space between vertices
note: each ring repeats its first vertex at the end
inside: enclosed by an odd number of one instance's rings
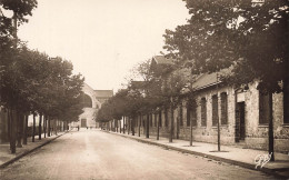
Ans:
POLYGON ((14 162, 16 160, 24 157, 26 154, 37 150, 38 148, 43 147, 44 144, 53 141, 54 139, 61 137, 66 132, 58 132, 58 134, 52 134, 51 137, 43 138, 42 133, 41 140, 38 140, 38 136, 36 136, 34 142, 32 142, 32 138, 29 137, 27 139, 27 144, 22 148, 17 148, 16 153, 12 154, 10 152, 9 142, 0 144, 0 169, 7 167, 8 164, 14 162))

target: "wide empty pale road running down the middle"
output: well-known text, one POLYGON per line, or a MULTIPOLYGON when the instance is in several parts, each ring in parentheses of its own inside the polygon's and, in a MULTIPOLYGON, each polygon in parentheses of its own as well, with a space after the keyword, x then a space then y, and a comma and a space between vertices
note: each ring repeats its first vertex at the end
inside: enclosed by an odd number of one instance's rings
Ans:
POLYGON ((69 132, 0 171, 0 179, 273 179, 98 130, 69 132))

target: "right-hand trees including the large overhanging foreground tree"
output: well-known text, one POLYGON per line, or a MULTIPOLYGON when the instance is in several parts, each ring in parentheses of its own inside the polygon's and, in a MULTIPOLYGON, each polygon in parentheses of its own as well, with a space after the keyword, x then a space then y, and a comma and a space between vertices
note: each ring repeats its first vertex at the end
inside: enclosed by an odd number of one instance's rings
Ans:
MULTIPOLYGON (((140 68, 139 72, 147 77, 146 97, 131 88, 122 90, 102 107, 98 120, 146 113, 168 102, 173 108, 195 76, 230 68, 231 73, 221 77, 222 82, 239 88, 258 80, 258 89, 269 94, 269 153, 273 152, 272 93, 283 92, 285 119, 289 117, 288 0, 186 0, 186 3, 191 18, 176 30, 166 30, 163 49, 166 57, 175 59, 173 67, 189 69, 191 77, 182 81, 175 74, 168 81, 167 71, 157 74, 140 68), (157 84, 166 84, 167 90, 157 84)), ((189 92, 188 97, 195 99, 193 90, 189 92)))

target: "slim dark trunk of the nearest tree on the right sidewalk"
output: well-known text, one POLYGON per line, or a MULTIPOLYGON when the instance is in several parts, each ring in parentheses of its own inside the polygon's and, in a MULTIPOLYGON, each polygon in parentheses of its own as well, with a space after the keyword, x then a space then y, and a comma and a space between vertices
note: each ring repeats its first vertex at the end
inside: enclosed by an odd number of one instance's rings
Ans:
POLYGON ((270 161, 275 161, 275 150, 273 150, 273 116, 272 116, 272 93, 269 93, 269 154, 271 154, 270 161))

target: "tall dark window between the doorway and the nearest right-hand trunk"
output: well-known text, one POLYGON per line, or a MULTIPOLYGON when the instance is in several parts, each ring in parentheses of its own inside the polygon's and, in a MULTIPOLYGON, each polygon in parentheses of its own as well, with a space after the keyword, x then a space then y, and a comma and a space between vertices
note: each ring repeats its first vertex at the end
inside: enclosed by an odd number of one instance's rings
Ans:
POLYGON ((268 124, 269 116, 269 94, 259 92, 259 124, 268 124))

